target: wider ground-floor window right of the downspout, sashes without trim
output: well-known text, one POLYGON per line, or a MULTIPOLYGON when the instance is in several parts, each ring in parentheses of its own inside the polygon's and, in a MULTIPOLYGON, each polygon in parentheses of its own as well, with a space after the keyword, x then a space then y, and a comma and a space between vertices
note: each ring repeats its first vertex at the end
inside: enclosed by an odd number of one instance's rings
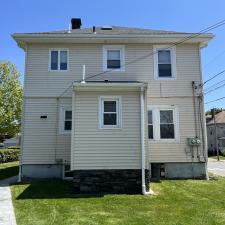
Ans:
POLYGON ((160 138, 175 138, 173 110, 160 110, 160 138))

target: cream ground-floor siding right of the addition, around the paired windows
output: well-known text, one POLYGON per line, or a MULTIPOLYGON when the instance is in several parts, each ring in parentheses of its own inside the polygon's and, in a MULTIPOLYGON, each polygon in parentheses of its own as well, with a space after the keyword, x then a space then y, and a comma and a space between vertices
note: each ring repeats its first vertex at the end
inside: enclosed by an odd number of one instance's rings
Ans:
MULTIPOLYGON (((149 160, 151 162, 191 162, 192 158, 189 153, 190 147, 187 145, 187 138, 194 137, 194 109, 192 98, 148 98, 147 99, 148 109, 154 111, 154 106, 161 109, 177 109, 177 121, 178 125, 178 140, 151 140, 148 139, 148 153, 149 160), (150 106, 151 104, 151 106, 150 106), (176 107, 174 107, 174 105, 176 107)), ((198 108, 196 106, 196 110, 198 108)), ((157 113, 155 114, 157 115, 157 113)), ((154 118, 153 121, 157 119, 154 118)), ((157 125, 158 123, 156 123, 157 125)), ((154 127, 155 128, 155 127, 154 127)), ((157 127, 156 127, 157 129, 157 127)), ((198 129, 197 131, 201 132, 198 129)), ((199 151, 202 151, 203 145, 199 147, 199 151)), ((196 154, 196 152, 195 152, 196 154)), ((194 159, 197 161, 197 157, 194 159)))

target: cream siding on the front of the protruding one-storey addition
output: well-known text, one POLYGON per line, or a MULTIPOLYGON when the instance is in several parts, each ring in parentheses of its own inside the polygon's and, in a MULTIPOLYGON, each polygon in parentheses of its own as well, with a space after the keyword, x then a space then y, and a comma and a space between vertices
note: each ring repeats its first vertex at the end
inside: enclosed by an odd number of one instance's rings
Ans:
POLYGON ((75 92, 72 169, 140 169, 139 92, 121 96, 123 129, 98 128, 98 103, 108 92, 75 92))

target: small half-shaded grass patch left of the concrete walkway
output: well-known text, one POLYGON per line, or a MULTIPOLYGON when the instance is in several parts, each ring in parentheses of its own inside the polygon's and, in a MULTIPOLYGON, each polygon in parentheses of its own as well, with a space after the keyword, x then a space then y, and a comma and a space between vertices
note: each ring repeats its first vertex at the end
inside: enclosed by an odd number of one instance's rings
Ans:
POLYGON ((19 172, 19 162, 0 163, 0 180, 16 176, 19 172))

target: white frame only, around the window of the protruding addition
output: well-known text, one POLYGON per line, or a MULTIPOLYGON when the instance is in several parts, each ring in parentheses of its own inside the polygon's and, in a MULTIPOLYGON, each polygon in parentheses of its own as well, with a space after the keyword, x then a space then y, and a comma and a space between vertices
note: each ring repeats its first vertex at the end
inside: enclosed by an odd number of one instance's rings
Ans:
MULTIPOLYGON (((110 113, 110 112, 107 112, 110 113)), ((122 109, 120 96, 100 96, 99 97, 99 129, 121 129, 122 128, 122 109), (116 125, 104 125, 104 101, 116 101, 116 125)))

